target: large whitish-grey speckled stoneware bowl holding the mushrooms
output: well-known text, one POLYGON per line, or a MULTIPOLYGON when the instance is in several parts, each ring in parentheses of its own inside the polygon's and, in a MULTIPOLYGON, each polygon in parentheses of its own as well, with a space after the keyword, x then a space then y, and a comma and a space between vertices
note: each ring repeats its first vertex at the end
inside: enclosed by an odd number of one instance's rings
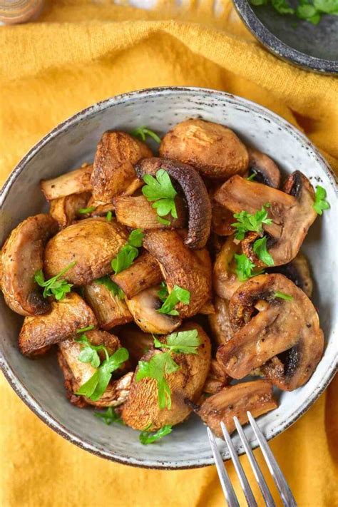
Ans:
MULTIPOLYGON (((130 130, 146 125, 163 134, 175 123, 192 117, 229 126, 245 143, 272 156, 285 175, 301 170, 314 185, 320 183, 327 189, 331 203, 331 209, 312 226, 304 245, 315 280, 314 304, 319 309, 326 337, 324 357, 305 386, 280 394, 278 409, 258 420, 267 439, 272 439, 304 414, 324 391, 337 365, 337 342, 334 342, 338 289, 337 189, 327 163, 290 123, 244 98, 200 88, 154 88, 98 103, 52 130, 11 173, 0 196, 0 245, 21 220, 46 209, 39 188, 41 178, 53 178, 92 160, 105 130, 130 130)), ((158 444, 143 446, 138 441, 138 431, 118 424, 105 426, 93 417, 91 409, 72 406, 66 400, 56 357, 32 361, 21 356, 17 337, 22 318, 6 307, 2 297, 0 305, 4 374, 21 399, 58 434, 82 449, 124 464, 153 468, 212 464, 205 426, 196 416, 175 426, 173 433, 158 444)), ((255 448, 257 441, 252 431, 246 428, 245 432, 255 448)), ((237 451, 242 452, 237 435, 233 441, 237 451)), ((225 446, 222 449, 226 459, 225 446)))

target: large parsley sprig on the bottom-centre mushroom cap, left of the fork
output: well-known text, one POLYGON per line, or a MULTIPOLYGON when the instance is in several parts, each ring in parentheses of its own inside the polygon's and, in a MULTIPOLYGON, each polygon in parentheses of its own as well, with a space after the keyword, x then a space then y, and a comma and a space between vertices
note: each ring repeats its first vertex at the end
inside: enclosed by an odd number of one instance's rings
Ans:
POLYGON ((154 338, 155 347, 167 348, 168 352, 153 354, 149 361, 138 362, 138 373, 135 381, 150 378, 155 379, 158 384, 158 406, 160 409, 171 409, 171 392, 165 375, 177 372, 180 366, 175 363, 170 352, 185 352, 185 354, 195 354, 196 348, 200 344, 198 332, 196 329, 182 331, 168 335, 167 343, 162 344, 154 338), (183 334, 183 337, 182 337, 183 334))

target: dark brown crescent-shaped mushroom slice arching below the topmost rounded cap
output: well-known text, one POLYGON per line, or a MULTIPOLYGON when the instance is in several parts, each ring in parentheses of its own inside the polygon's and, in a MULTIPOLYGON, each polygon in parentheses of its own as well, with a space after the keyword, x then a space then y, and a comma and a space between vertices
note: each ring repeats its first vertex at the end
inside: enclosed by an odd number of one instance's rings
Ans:
POLYGON ((185 245, 203 248, 210 235, 211 204, 202 178, 190 165, 165 158, 147 158, 135 165, 136 173, 141 179, 145 174, 155 176, 159 169, 164 169, 180 185, 185 195, 188 205, 188 236, 185 245))

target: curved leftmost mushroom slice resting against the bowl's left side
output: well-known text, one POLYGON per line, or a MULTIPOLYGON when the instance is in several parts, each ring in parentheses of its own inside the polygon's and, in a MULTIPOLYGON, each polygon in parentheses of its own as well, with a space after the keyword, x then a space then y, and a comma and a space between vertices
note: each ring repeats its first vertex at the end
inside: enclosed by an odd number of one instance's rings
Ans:
POLYGON ((57 230, 51 215, 35 215, 12 230, 2 247, 1 290, 6 304, 20 315, 37 315, 50 309, 34 274, 43 266, 44 245, 57 230))

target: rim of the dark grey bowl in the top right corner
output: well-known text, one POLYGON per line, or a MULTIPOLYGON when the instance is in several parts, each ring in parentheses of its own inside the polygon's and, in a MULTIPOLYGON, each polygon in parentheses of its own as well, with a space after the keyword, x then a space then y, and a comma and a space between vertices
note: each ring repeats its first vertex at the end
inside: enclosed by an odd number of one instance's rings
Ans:
POLYGON ((237 13, 250 30, 253 36, 258 39, 271 53, 278 58, 297 65, 306 71, 314 71, 324 74, 338 73, 338 61, 317 58, 316 56, 302 53, 287 43, 278 39, 275 34, 267 29, 267 26, 256 16, 255 11, 249 4, 249 0, 232 0, 237 13))

